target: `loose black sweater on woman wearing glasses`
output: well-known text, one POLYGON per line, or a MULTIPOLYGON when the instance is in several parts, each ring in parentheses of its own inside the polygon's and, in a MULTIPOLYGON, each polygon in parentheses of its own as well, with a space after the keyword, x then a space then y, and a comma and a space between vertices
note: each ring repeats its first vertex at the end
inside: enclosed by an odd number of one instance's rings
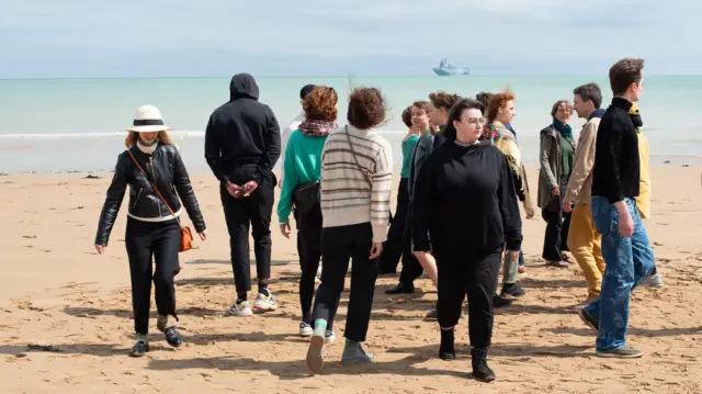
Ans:
POLYGON ((415 250, 437 256, 519 250, 521 216, 507 157, 490 143, 467 147, 446 140, 417 179, 412 202, 415 250))

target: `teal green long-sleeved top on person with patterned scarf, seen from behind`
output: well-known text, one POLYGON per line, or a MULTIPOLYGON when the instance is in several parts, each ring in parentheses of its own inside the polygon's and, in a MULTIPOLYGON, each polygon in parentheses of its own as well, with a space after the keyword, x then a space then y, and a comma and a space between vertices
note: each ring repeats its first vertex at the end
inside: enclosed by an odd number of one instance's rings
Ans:
POLYGON ((288 223, 295 187, 319 180, 321 150, 326 140, 327 137, 308 137, 299 130, 290 135, 283 161, 283 187, 278 200, 278 218, 281 224, 288 223))

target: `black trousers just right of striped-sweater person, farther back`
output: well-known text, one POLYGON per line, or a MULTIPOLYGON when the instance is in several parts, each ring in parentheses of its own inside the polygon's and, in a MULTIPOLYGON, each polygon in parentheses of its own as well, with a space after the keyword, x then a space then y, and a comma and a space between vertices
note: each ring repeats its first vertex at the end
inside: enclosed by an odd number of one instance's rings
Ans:
POLYGON ((401 178, 397 190, 397 209, 393 217, 393 224, 387 232, 387 240, 383 244, 381 255, 381 273, 393 273, 397 270, 400 257, 403 259, 403 270, 399 281, 411 285, 415 279, 422 272, 421 264, 412 255, 412 243, 410 233, 409 214, 409 190, 408 179, 401 178))

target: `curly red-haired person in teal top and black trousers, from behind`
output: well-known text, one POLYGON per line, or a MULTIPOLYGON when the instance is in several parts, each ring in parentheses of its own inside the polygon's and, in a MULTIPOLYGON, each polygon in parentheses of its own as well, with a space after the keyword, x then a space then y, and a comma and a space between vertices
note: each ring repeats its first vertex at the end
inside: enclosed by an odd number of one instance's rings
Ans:
MULTIPOLYGON (((290 238, 290 213, 295 204, 297 255, 302 269, 299 335, 305 337, 313 334, 312 302, 315 295, 315 273, 321 259, 321 149, 329 132, 337 128, 338 101, 337 92, 328 87, 316 87, 305 97, 305 120, 291 134, 283 162, 283 188, 278 202, 278 216, 281 233, 285 238, 290 238)), ((332 338, 332 323, 333 320, 330 320, 327 327, 328 342, 332 338)))

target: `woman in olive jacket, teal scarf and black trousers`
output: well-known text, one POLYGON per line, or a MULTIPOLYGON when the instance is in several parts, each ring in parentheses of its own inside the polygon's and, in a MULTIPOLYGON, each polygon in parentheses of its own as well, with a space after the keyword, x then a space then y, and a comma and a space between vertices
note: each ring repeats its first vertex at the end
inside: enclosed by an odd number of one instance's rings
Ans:
POLYGON ((562 195, 565 194, 573 172, 575 138, 568 124, 573 115, 573 104, 558 100, 551 110, 551 124, 541 131, 539 158, 539 207, 546 222, 542 258, 547 266, 568 268, 568 229, 570 213, 562 209, 562 195))

